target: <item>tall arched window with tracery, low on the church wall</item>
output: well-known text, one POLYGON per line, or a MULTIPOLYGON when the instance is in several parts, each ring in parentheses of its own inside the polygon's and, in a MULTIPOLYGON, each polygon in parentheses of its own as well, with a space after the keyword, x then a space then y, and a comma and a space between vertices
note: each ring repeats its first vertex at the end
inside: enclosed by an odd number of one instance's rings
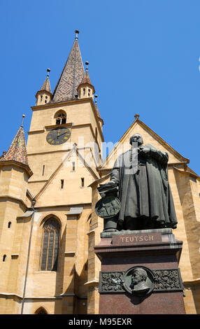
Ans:
POLYGON ((41 271, 57 271, 60 225, 49 218, 43 225, 41 271))

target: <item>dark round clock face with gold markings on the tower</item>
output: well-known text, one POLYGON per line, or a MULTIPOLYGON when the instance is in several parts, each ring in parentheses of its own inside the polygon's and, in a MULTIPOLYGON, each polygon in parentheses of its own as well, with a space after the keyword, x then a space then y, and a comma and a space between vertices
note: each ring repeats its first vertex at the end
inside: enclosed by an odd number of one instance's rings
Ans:
POLYGON ((71 136, 71 132, 66 127, 56 127, 47 135, 47 141, 50 145, 59 145, 64 144, 69 137, 71 136))

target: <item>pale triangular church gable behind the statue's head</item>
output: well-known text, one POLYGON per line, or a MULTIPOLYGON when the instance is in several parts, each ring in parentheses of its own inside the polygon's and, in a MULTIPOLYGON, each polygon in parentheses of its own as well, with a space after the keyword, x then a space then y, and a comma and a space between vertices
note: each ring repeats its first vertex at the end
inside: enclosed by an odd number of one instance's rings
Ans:
POLYGON ((167 144, 161 137, 159 137, 155 132, 153 132, 145 123, 136 117, 134 123, 129 127, 127 132, 124 133, 120 141, 117 143, 115 148, 110 152, 106 160, 101 165, 100 170, 111 169, 114 165, 117 156, 129 150, 131 147, 129 144, 129 139, 133 134, 141 134, 143 137, 143 145, 151 144, 160 151, 164 151, 169 155, 169 164, 185 162, 188 163, 189 160, 184 158, 178 152, 176 152, 169 144, 167 144))

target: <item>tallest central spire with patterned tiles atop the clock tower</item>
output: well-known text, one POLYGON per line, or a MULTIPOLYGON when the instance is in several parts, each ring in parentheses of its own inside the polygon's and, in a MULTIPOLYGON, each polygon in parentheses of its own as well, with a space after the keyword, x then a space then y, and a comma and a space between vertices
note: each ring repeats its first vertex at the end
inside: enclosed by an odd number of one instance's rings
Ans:
POLYGON ((76 38, 73 47, 52 94, 51 102, 64 102, 74 99, 77 94, 77 87, 83 80, 84 68, 78 45, 79 31, 76 30, 75 33, 76 38))

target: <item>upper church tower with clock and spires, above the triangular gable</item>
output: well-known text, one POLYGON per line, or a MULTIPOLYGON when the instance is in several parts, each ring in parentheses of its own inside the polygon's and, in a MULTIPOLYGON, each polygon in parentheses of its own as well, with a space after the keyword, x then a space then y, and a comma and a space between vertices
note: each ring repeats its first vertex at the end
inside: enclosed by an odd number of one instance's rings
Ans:
MULTIPOLYGON (((51 95, 47 76, 36 94, 36 106, 31 108, 33 115, 27 152, 34 172, 29 180, 29 190, 33 195, 40 193, 73 144, 79 146, 78 151, 98 176, 103 120, 94 104, 94 86, 87 66, 84 71, 78 33, 76 30, 73 47, 54 92, 51 95)), ((76 165, 71 163, 72 171, 74 167, 76 165)))

